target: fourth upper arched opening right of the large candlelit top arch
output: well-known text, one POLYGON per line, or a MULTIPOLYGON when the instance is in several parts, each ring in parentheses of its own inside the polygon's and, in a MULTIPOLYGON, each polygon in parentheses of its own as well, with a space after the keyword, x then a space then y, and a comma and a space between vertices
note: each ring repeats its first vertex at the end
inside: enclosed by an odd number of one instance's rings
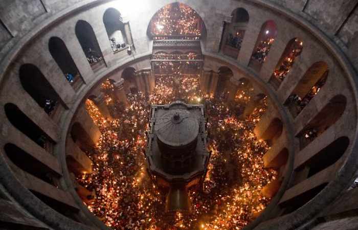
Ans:
POLYGON ((318 94, 326 83, 328 73, 328 65, 323 61, 316 62, 308 68, 284 104, 294 118, 318 94))

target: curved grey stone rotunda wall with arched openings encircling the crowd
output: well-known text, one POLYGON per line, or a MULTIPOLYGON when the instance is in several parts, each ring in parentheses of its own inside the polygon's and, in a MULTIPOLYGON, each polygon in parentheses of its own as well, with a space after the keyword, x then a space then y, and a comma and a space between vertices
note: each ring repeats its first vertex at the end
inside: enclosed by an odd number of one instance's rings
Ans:
MULTIPOLYGON (((7 210, 7 215, 0 215, 0 221, 8 228, 106 229, 83 205, 68 170, 91 170, 79 145, 94 145, 100 136, 83 102, 95 96, 92 99, 105 113, 97 87, 105 78, 120 82, 128 67, 135 70, 135 75, 150 75, 153 41, 147 36, 148 24, 156 11, 172 2, 0 3, 0 207, 7 210), (125 49, 116 52, 103 23, 108 8, 120 12, 121 33, 127 42, 125 49), (79 24, 86 30, 78 29, 79 24), (95 44, 100 61, 87 61, 80 43, 83 33, 89 36, 88 42, 95 44), (63 55, 73 60, 71 68, 64 70, 69 66, 59 63, 56 52, 51 52, 54 47, 50 40, 54 38, 57 47, 67 50, 63 55), (70 69, 78 72, 80 79, 73 84, 64 77, 70 69), (57 101, 50 116, 42 108, 41 94, 57 101), (73 165, 68 165, 68 158, 73 165), (24 161, 29 164, 23 164, 24 161)), ((352 213, 357 207, 353 201, 358 197, 348 188, 356 176, 358 154, 358 1, 181 3, 192 7, 206 26, 206 35, 200 41, 205 58, 203 75, 218 73, 221 66, 229 67, 234 84, 247 78, 258 93, 270 98, 269 111, 261 118, 255 134, 274 140, 264 162, 267 167, 283 167, 283 182, 265 212, 247 228, 334 229, 347 221, 355 229, 357 221, 352 213), (237 8, 245 9, 250 18, 241 49, 233 58, 222 52, 220 44, 225 39, 223 21, 231 22, 230 16, 237 8), (266 61, 256 68, 250 60, 266 21, 275 22, 277 34, 266 61), (279 86, 274 85, 270 79, 293 38, 303 42, 302 53, 279 86), (320 66, 326 66, 327 80, 319 93, 293 116, 285 102, 293 93, 315 83, 309 80, 316 79, 315 74, 321 71, 320 67, 310 68, 317 66, 315 63, 324 63, 320 66), (279 126, 282 134, 276 138, 274 133, 279 126), (310 128, 317 129, 318 136, 306 143, 302 136, 310 128), (330 160, 321 160, 326 158, 330 160)), ((153 85, 144 82, 141 87, 150 90, 153 85)))

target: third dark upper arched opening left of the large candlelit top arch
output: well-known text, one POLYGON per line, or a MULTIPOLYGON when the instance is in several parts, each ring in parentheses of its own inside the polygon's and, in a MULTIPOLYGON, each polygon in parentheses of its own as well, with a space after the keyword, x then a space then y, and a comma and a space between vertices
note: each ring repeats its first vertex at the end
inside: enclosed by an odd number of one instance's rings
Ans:
POLYGON ((74 89, 78 89, 84 82, 62 39, 51 37, 49 40, 49 51, 57 65, 60 67, 66 80, 70 82, 74 89))

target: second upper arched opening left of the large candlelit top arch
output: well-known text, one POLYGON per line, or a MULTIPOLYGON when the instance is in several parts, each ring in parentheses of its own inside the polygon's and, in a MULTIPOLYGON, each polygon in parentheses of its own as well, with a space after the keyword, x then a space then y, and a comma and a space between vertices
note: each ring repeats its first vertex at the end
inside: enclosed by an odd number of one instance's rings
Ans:
POLYGON ((105 66, 102 51, 99 47, 95 32, 87 21, 78 20, 76 24, 76 36, 86 55, 88 63, 94 71, 105 66))

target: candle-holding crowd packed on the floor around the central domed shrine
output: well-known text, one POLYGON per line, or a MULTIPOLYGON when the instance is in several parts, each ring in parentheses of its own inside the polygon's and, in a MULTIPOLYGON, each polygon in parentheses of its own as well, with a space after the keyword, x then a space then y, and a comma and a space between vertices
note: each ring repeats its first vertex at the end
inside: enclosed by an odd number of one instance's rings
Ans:
POLYGON ((235 106, 221 98, 202 95, 199 76, 157 77, 150 95, 127 94, 129 105, 116 101, 114 87, 106 82, 108 107, 115 119, 104 119, 92 101, 86 107, 102 135, 95 151, 88 153, 93 172, 78 175, 79 183, 96 197, 88 209, 114 229, 241 229, 270 201, 261 189, 277 172, 263 168, 268 149, 253 133, 265 111, 263 102, 243 120, 238 116, 247 100, 235 106), (176 82, 180 84, 177 84, 176 82), (189 191, 190 214, 168 216, 165 193, 154 185, 146 171, 144 149, 151 104, 168 104, 180 97, 187 103, 204 103, 212 151, 202 188, 189 191))

